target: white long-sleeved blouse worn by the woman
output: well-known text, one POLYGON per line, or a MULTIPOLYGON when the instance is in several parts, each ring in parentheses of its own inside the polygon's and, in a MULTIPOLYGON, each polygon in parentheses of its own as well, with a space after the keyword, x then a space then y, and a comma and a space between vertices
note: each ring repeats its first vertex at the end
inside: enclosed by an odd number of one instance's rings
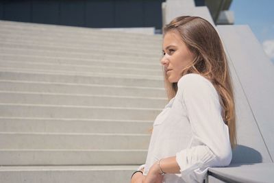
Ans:
POLYGON ((203 182, 209 167, 231 162, 229 130, 210 81, 190 73, 177 86, 177 94, 153 123, 144 175, 159 159, 176 156, 181 173, 166 173, 164 183, 203 182))

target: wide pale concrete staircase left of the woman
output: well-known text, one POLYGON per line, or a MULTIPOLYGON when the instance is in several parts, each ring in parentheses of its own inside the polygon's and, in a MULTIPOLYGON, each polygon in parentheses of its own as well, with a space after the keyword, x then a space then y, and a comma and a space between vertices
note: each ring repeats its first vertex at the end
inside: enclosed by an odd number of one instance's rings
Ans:
POLYGON ((0 182, 129 182, 166 104, 161 35, 0 21, 0 182))

